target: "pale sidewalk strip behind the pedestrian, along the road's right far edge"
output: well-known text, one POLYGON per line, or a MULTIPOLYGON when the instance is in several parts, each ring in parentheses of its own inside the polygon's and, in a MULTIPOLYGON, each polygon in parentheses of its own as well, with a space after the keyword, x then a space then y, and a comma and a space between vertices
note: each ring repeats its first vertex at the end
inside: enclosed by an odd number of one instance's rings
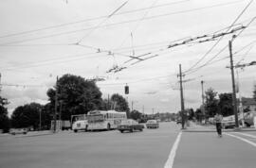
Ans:
MULTIPOLYGON (((198 125, 194 122, 190 122, 190 126, 187 126, 186 129, 182 130, 183 132, 216 132, 215 125, 198 125)), ((239 127, 239 128, 230 128, 222 129, 223 132, 243 132, 243 131, 256 131, 255 127, 239 127)))

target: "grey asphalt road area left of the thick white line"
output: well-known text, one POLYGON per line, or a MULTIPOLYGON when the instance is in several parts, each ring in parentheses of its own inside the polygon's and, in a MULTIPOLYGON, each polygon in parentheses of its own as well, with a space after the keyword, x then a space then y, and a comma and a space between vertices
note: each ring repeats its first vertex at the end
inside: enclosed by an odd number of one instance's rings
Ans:
POLYGON ((158 129, 133 133, 112 130, 0 137, 0 167, 164 167, 178 131, 174 123, 163 123, 158 129))

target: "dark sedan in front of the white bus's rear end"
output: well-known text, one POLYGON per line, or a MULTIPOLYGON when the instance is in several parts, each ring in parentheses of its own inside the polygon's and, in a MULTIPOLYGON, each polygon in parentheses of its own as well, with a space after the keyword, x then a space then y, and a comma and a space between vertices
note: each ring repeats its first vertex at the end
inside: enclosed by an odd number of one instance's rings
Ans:
POLYGON ((137 123, 137 121, 132 119, 122 120, 120 125, 118 126, 118 130, 122 133, 124 131, 133 132, 135 130, 142 131, 144 128, 143 125, 137 123))

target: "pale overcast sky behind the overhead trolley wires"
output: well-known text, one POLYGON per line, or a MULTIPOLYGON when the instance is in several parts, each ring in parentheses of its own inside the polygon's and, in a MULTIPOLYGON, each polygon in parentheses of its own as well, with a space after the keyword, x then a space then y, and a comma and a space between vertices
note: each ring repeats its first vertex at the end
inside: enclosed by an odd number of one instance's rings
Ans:
MULTIPOLYGON (((228 45, 233 34, 224 36, 206 57, 219 39, 169 49, 168 46, 228 31, 227 27, 249 2, 1 0, 1 95, 9 99, 11 112, 30 102, 46 104, 46 91, 55 85, 56 76, 100 76, 105 78, 97 82, 103 98, 117 92, 128 98, 130 106, 134 101, 134 109, 141 111, 144 106, 145 113, 152 113, 153 109, 177 112, 180 109, 178 65, 182 64, 182 70, 186 71, 201 60, 193 67, 197 71, 190 71, 184 77, 184 80, 191 79, 184 83, 185 107, 196 109, 202 102, 201 80, 205 81, 205 90, 211 87, 219 93, 231 92, 230 70, 226 68, 229 48, 216 54, 228 45), (137 64, 133 63, 138 59, 126 62, 131 59, 129 56, 139 55, 145 55, 141 59, 157 57, 137 64), (207 66, 197 69, 206 62, 209 62, 207 66), (114 66, 126 69, 106 73, 114 66), (129 95, 124 94, 126 83, 130 87, 129 95)), ((252 2, 229 29, 247 25, 255 16, 256 3, 252 2)), ((256 60, 255 44, 256 21, 233 42, 234 63, 256 60)), ((255 70, 256 66, 238 69, 242 96, 252 96, 255 70)))

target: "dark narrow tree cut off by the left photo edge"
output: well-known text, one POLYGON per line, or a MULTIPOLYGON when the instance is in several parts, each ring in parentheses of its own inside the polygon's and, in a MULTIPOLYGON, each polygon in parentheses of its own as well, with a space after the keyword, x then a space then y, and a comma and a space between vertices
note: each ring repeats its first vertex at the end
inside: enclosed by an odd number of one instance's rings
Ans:
POLYGON ((3 132, 9 131, 8 109, 5 108, 8 104, 8 100, 0 96, 0 129, 3 129, 3 132))

